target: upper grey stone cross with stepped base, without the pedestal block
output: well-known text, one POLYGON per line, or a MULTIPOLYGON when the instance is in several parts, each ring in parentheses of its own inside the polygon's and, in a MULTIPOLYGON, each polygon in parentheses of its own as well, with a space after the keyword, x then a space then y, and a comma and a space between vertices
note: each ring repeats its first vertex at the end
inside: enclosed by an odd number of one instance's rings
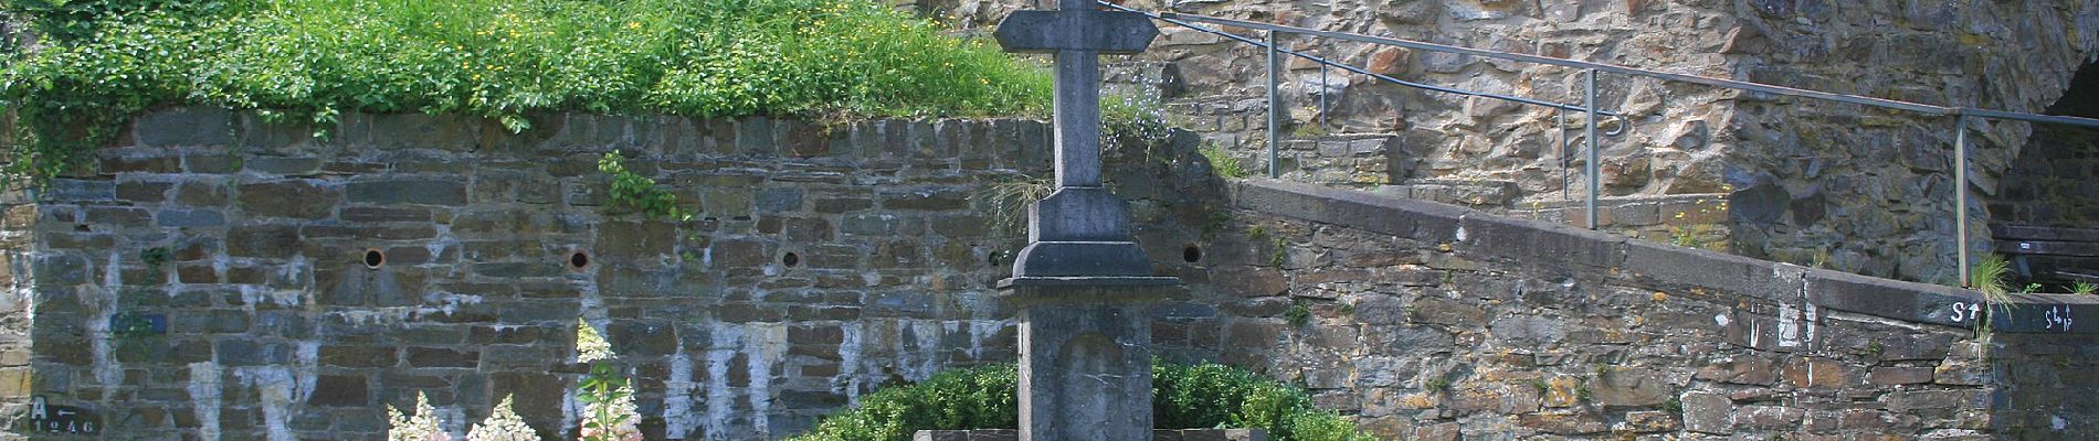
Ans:
POLYGON ((1159 27, 1138 13, 1058 0, 1058 10, 1014 10, 993 38, 1005 52, 1056 54, 1056 192, 1029 207, 1029 249, 1014 278, 1148 276, 1129 238, 1129 209, 1100 186, 1100 54, 1142 52, 1159 27))

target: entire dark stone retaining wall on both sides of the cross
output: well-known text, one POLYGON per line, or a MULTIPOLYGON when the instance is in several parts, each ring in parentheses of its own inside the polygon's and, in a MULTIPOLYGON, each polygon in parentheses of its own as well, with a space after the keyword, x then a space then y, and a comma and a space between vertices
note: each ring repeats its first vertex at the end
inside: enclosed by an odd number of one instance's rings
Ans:
MULTIPOLYGON (((579 318, 653 439, 783 439, 882 385, 1016 357, 993 284, 1024 234, 989 196, 1047 178, 1045 123, 311 134, 160 111, 10 194, 6 437, 382 439, 382 405, 416 393, 455 433, 516 395, 573 435, 579 318), (607 213, 607 150, 697 215, 607 213)), ((1971 291, 1224 182, 1184 132, 1110 144, 1152 274, 1190 291, 1154 311, 1154 353, 1306 385, 1385 439, 2099 437, 2093 299, 2021 295, 1979 339, 1971 291)))

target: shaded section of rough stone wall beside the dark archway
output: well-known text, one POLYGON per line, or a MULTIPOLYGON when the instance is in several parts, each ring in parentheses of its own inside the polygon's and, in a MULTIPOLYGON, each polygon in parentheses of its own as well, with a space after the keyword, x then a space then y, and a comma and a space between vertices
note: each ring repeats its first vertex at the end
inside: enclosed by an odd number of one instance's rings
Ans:
MULTIPOLYGON (((1742 79, 1931 105, 2040 113, 2099 56, 2099 2, 1753 0, 1742 79)), ((1971 242, 2032 125, 1971 121, 1969 182, 1952 182, 1952 117, 1742 96, 1727 182, 1736 251, 1906 280, 1956 280, 1954 190, 1971 242)))

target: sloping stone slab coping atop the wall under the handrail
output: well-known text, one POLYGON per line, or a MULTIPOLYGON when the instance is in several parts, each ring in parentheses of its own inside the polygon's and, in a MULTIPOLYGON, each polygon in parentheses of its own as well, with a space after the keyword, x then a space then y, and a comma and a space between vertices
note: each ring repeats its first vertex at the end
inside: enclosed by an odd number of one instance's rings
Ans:
POLYGON ((1990 314, 1994 332, 2099 334, 2099 295, 2011 295, 2011 301, 1990 305, 1969 288, 1631 240, 1457 205, 1299 182, 1238 180, 1232 184, 1232 203, 1238 209, 1450 245, 1478 259, 1623 272, 1656 288, 1757 297, 1954 328, 1975 328, 1977 316, 1990 314), (2093 322, 2078 324, 2078 316, 2091 316, 2093 322))

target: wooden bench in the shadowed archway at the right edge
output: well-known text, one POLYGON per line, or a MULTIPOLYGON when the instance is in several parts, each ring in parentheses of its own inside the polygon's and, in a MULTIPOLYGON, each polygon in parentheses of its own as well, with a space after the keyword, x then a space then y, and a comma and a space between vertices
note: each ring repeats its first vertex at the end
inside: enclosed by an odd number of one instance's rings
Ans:
POLYGON ((2099 230, 1998 224, 1990 234, 2019 278, 2099 282, 2099 230))

